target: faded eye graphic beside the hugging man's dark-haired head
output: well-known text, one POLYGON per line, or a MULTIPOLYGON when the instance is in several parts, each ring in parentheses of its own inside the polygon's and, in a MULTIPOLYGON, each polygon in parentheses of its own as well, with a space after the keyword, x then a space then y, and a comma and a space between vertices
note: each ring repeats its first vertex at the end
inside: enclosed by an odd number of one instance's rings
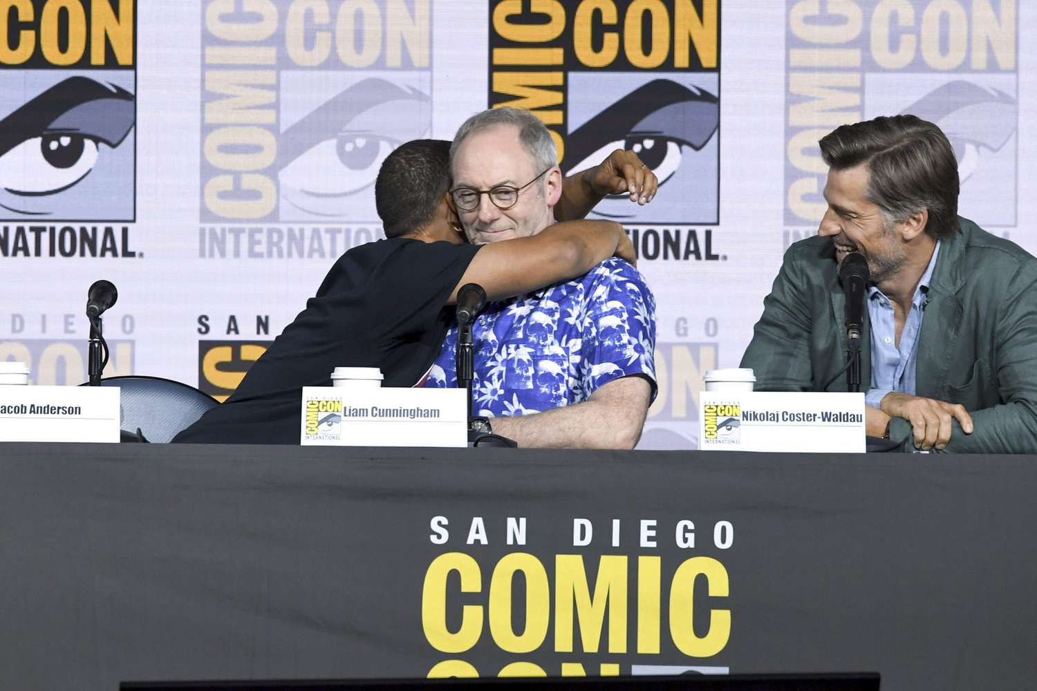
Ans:
POLYGON ((282 198, 318 217, 341 215, 351 195, 374 183, 399 144, 424 134, 428 96, 382 79, 365 79, 338 93, 280 138, 282 198))

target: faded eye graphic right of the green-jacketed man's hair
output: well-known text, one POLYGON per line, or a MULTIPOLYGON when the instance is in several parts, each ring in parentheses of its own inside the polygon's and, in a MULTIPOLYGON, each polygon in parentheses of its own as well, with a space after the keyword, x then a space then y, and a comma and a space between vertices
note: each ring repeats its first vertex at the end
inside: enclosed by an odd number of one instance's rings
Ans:
POLYGON ((955 80, 933 89, 902 113, 932 122, 947 135, 958 161, 958 178, 981 174, 985 151, 996 152, 1015 134, 1018 104, 1008 94, 955 80))

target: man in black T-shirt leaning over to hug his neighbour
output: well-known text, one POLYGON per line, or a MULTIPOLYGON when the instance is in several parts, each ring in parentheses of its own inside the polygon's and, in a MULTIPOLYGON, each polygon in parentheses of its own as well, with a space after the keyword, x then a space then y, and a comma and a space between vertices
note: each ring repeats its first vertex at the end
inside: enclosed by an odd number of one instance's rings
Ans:
MULTIPOLYGON (((644 184, 635 171, 644 175, 640 166, 604 164, 602 183, 644 184)), ((445 308, 460 286, 478 283, 501 299, 581 276, 612 255, 634 261, 622 226, 610 221, 469 244, 449 188, 450 142, 417 140, 393 151, 374 192, 387 239, 339 257, 234 394, 173 441, 299 443, 302 387, 329 385, 335 367, 381 368, 385 386, 417 383, 439 353, 453 319, 445 308)))

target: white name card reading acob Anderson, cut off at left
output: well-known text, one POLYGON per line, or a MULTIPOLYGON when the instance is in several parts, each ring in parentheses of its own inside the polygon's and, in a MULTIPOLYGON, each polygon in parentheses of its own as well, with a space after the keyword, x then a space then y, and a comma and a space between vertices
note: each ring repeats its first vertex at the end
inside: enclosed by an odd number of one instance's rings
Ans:
POLYGON ((0 386, 0 441, 118 440, 118 386, 0 386))

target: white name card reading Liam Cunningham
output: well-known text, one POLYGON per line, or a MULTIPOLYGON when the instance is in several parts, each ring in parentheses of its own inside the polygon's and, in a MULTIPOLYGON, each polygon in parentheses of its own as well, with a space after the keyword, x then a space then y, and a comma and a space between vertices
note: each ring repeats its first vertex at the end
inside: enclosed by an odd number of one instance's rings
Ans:
POLYGON ((303 387, 300 443, 318 447, 468 445, 464 388, 303 387))

